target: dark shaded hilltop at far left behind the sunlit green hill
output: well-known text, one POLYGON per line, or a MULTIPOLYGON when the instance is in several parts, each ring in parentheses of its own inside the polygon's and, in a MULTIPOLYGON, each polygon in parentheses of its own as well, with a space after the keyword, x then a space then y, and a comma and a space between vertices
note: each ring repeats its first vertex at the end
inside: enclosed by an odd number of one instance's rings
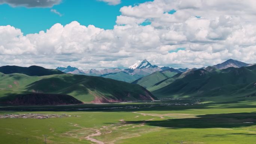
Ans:
POLYGON ((36 65, 30 67, 18 67, 18 66, 2 66, 0 67, 0 73, 4 74, 12 74, 12 73, 20 73, 26 74, 28 76, 49 76, 52 74, 63 74, 62 71, 54 70, 54 69, 46 69, 43 67, 39 67, 36 65))

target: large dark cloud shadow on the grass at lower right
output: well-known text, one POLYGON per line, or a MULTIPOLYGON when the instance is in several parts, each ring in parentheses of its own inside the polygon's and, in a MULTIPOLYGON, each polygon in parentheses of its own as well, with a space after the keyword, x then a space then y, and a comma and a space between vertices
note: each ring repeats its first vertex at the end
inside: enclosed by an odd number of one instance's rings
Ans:
POLYGON ((206 114, 195 118, 152 121, 126 121, 126 124, 144 123, 164 128, 239 128, 256 125, 256 113, 206 114))

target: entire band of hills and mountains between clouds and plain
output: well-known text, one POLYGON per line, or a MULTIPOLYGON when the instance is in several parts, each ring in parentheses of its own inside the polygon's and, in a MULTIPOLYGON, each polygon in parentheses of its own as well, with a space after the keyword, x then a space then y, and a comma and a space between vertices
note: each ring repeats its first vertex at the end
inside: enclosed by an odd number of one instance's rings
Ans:
POLYGON ((0 82, 0 104, 55 105, 157 98, 256 100, 256 65, 233 59, 192 69, 160 68, 146 59, 123 70, 2 66, 0 82))

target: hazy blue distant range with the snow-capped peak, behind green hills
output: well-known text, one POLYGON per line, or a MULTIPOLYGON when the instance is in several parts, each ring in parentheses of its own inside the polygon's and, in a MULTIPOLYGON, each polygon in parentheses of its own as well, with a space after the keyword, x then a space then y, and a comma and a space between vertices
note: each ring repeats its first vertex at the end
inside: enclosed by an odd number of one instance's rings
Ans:
MULTIPOLYGON (((158 67, 156 65, 150 64, 146 59, 143 61, 138 61, 135 64, 129 66, 126 69, 119 69, 119 68, 113 68, 113 69, 103 69, 103 70, 79 70, 78 68, 68 66, 65 67, 57 67, 57 70, 60 70, 64 73, 71 73, 71 74, 82 74, 87 76, 101 76, 105 78, 115 79, 115 80, 121 80, 124 82, 133 82, 134 80, 137 80, 141 77, 147 76, 149 74, 152 74, 156 71, 162 71, 167 70, 170 67, 158 67)), ((188 68, 182 69, 180 68, 179 71, 184 72, 188 70, 188 68)))

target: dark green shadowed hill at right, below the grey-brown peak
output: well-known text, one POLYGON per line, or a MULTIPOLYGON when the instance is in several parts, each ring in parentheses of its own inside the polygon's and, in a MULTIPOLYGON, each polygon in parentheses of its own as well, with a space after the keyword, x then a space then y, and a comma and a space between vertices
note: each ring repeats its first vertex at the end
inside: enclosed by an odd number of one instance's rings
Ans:
POLYGON ((150 91, 158 97, 194 97, 205 101, 237 101, 256 97, 256 65, 223 70, 192 70, 170 79, 173 81, 169 80, 168 85, 161 85, 164 80, 158 84, 162 87, 150 91))

